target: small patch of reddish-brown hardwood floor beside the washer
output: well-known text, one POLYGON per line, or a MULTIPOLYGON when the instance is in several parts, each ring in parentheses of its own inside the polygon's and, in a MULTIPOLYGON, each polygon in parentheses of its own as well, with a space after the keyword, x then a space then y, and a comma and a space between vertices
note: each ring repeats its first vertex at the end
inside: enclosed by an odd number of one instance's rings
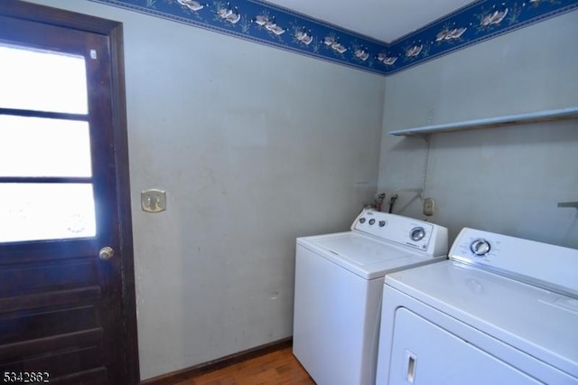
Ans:
POLYGON ((287 347, 176 385, 315 385, 287 347))

